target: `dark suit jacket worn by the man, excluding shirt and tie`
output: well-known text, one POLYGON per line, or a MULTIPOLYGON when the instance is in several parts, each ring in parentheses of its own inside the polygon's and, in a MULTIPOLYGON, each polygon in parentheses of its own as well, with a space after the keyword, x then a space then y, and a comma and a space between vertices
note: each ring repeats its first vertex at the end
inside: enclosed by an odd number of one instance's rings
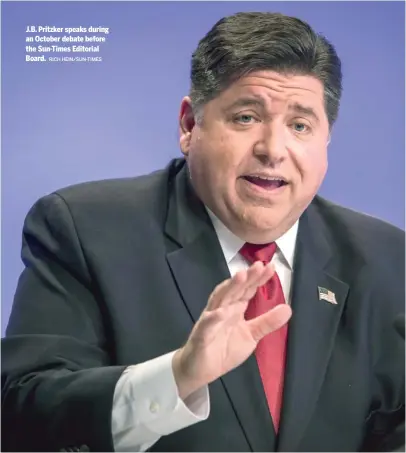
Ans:
MULTIPOLYGON (((183 160, 39 200, 2 347, 3 451, 112 451, 129 364, 182 346, 229 277, 183 160)), ((404 420, 404 233, 316 197, 300 219, 283 412, 272 426, 255 357, 210 385, 211 414, 151 451, 399 447, 404 420), (318 286, 337 305, 320 301, 318 286)), ((137 404, 134 401, 134 404, 137 404)))

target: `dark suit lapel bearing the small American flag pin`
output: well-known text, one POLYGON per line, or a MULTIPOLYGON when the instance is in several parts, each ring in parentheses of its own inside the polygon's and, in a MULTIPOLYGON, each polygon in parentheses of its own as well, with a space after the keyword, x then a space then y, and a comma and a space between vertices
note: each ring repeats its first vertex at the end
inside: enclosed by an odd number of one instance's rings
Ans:
POLYGON ((334 346, 349 286, 329 272, 329 243, 314 206, 302 216, 293 272, 293 315, 278 451, 299 451, 334 346), (334 293, 336 304, 321 300, 318 287, 334 293))

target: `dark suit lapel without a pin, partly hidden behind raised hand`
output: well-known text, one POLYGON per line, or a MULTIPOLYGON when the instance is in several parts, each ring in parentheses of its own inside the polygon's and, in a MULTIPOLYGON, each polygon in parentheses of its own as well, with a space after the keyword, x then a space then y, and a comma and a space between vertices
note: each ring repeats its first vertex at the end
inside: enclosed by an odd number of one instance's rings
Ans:
MULTIPOLYGON (((210 218, 188 183, 183 168, 172 188, 166 234, 179 248, 168 264, 186 308, 198 320, 215 286, 230 277, 210 218)), ((275 433, 255 356, 223 376, 221 382, 253 451, 274 451, 275 433)))

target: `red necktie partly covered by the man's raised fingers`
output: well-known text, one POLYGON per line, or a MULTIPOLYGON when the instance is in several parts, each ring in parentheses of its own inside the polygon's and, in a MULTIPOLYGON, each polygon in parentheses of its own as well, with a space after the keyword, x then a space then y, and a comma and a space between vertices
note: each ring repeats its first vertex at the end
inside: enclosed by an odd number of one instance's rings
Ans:
MULTIPOLYGON (((262 261, 267 264, 276 251, 276 244, 255 245, 246 243, 240 250, 241 255, 250 263, 262 261)), ((245 319, 250 320, 262 315, 279 304, 285 303, 281 282, 275 274, 265 285, 258 288, 251 299, 245 319)), ((283 378, 285 371, 287 325, 270 333, 259 341, 255 356, 264 386, 268 407, 272 415, 275 431, 278 432, 282 405, 283 378)))

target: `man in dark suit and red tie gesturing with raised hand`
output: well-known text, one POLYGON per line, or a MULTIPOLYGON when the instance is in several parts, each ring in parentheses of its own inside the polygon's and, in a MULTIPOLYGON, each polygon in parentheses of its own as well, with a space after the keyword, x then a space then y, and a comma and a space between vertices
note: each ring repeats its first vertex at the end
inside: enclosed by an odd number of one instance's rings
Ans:
POLYGON ((340 95, 307 24, 225 18, 193 54, 183 159, 33 206, 4 451, 402 447, 404 233, 316 195, 340 95))

